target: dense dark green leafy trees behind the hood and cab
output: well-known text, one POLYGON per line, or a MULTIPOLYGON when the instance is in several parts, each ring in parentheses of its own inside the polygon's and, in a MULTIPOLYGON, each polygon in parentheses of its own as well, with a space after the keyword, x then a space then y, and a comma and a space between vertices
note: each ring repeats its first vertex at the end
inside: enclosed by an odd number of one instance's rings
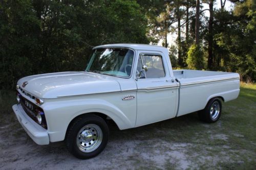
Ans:
POLYGON ((0 89, 29 75, 84 70, 96 45, 148 43, 146 27, 136 1, 0 1, 0 89))

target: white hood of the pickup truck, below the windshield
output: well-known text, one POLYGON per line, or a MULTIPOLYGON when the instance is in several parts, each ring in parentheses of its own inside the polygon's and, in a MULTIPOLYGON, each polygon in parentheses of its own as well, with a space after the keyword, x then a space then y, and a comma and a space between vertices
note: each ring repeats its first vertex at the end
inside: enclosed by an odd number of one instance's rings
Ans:
POLYGON ((120 91, 120 85, 114 77, 85 71, 28 76, 17 84, 42 99, 120 91), (25 87, 24 82, 28 82, 25 87))

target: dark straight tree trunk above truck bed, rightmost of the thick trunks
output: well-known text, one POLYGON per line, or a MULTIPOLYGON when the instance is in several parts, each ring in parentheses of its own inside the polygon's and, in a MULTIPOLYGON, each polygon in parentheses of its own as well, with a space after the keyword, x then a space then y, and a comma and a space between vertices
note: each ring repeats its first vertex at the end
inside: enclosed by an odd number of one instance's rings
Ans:
POLYGON ((209 32, 208 32, 208 69, 212 69, 214 56, 212 55, 212 41, 214 39, 214 35, 212 33, 213 30, 213 21, 214 21, 214 0, 210 0, 209 2, 209 32))

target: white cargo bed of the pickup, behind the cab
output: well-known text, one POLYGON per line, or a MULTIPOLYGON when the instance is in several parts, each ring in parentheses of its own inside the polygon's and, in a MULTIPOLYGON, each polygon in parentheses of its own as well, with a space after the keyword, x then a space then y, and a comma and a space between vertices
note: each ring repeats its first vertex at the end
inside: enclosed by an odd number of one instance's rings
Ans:
POLYGON ((179 111, 177 116, 202 110, 207 102, 220 97, 224 102, 239 94, 239 74, 234 72, 173 70, 179 80, 179 111))

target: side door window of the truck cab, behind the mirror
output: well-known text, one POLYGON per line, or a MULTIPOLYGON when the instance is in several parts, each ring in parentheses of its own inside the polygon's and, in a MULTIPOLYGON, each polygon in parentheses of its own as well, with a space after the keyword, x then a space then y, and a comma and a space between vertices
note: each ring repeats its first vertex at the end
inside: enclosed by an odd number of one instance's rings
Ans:
POLYGON ((141 78, 148 79, 148 78, 165 77, 162 56, 150 55, 150 54, 140 54, 137 72, 139 72, 142 69, 143 65, 147 66, 147 71, 145 72, 145 76, 143 76, 144 74, 141 75, 141 78))

